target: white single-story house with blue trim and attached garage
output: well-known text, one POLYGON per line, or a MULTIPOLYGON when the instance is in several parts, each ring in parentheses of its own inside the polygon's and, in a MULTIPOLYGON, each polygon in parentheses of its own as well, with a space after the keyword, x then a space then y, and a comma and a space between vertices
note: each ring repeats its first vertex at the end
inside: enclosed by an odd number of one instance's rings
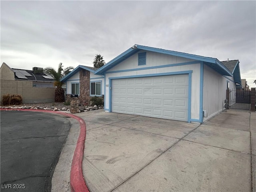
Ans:
POLYGON ((241 86, 239 61, 231 62, 134 45, 99 69, 78 66, 62 80, 67 93, 80 83, 87 95, 104 95, 106 112, 202 123, 224 109, 227 89, 241 86), (82 70, 90 72, 86 82, 82 70))

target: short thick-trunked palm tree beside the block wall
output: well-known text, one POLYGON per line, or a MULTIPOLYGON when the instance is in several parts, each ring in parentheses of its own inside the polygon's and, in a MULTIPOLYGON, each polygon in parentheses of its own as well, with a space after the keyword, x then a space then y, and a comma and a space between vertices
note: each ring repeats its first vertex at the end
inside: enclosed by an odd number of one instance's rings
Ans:
POLYGON ((65 102, 64 90, 62 89, 63 82, 61 82, 60 80, 62 79, 62 77, 67 75, 72 69, 74 68, 67 67, 63 69, 62 63, 59 64, 58 71, 56 71, 52 67, 47 67, 44 69, 44 72, 52 76, 55 80, 54 82, 54 86, 56 86, 55 96, 54 96, 55 102, 65 102))

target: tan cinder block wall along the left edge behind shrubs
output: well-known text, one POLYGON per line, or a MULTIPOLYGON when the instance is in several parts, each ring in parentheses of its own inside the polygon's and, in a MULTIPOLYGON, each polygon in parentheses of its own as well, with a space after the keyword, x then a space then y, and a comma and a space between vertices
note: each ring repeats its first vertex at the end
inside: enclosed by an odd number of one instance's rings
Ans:
POLYGON ((22 96, 23 103, 54 102, 55 88, 33 87, 32 81, 22 80, 1 80, 0 96, 4 94, 19 94, 22 96))

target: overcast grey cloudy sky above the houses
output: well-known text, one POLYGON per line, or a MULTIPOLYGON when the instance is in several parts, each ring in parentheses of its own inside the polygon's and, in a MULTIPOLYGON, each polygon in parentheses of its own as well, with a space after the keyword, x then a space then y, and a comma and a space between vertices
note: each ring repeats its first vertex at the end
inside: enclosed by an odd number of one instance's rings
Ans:
POLYGON ((1 63, 93 66, 134 44, 240 61, 255 87, 256 1, 1 1, 1 63))

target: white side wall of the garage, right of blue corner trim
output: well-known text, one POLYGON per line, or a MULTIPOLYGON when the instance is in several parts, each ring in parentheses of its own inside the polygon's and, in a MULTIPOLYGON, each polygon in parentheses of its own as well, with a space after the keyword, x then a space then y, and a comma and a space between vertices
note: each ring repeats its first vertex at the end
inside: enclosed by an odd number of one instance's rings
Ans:
MULTIPOLYGON (((233 77, 228 77, 234 80, 233 77)), ((226 99, 227 78, 204 65, 204 85, 203 85, 203 110, 207 111, 208 116, 203 121, 211 118, 224 110, 224 100, 226 99)), ((236 88, 231 80, 230 89, 236 88)))

